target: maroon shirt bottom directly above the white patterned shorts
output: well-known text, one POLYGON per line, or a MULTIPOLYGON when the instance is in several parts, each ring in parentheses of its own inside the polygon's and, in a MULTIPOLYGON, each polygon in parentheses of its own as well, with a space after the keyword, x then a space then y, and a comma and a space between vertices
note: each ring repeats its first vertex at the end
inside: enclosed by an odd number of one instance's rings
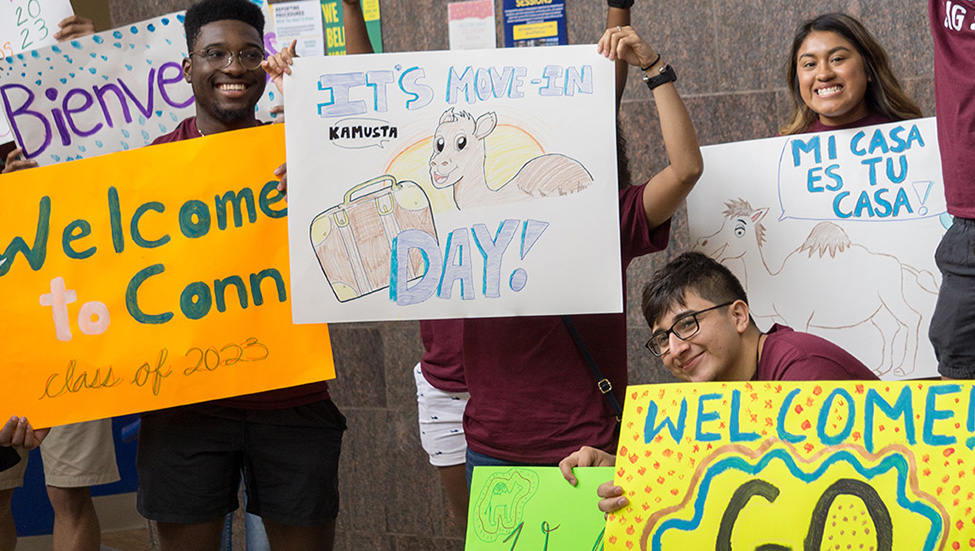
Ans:
POLYGON ((464 320, 420 322, 423 358, 420 371, 434 388, 445 392, 467 392, 464 381, 464 320))

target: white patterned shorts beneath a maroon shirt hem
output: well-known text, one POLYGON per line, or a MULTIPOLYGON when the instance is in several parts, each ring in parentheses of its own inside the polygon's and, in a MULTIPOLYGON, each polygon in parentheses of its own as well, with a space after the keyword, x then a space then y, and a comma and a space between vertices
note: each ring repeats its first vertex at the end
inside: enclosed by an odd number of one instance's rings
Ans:
POLYGON ((471 395, 446 392, 431 385, 420 364, 413 369, 416 379, 416 405, 420 418, 420 444, 437 467, 463 465, 467 455, 464 436, 464 408, 471 395))

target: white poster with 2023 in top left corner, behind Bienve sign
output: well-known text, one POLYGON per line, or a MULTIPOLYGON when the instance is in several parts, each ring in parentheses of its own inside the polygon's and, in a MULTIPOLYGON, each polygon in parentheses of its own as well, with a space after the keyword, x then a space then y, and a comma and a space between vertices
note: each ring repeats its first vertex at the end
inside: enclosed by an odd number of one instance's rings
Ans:
MULTIPOLYGON (((68 0, 0 2, 0 58, 56 43, 58 23, 73 13, 68 0)), ((12 139, 7 119, 0 112, 0 143, 12 139)))

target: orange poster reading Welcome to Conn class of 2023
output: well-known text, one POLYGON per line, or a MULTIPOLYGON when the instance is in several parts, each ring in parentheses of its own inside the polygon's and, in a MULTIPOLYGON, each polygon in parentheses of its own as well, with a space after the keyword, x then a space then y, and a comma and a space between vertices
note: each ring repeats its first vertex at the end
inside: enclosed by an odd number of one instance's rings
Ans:
POLYGON ((35 427, 335 376, 291 322, 282 125, 0 176, 0 415, 35 427))

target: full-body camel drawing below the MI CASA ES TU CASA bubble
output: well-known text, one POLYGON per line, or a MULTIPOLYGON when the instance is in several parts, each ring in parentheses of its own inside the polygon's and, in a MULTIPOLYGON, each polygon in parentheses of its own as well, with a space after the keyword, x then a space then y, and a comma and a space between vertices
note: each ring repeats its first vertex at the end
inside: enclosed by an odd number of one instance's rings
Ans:
POLYGON ((762 252, 766 232, 762 219, 768 212, 768 208, 752 208, 744 199, 729 200, 721 228, 698 239, 694 248, 722 263, 741 260, 745 288, 760 290, 749 297, 756 318, 782 321, 804 331, 811 327, 844 329, 870 322, 884 343, 878 374, 892 370, 898 376, 912 373, 921 314, 911 303, 920 299, 909 301, 906 297, 918 297, 919 293, 936 296, 938 284, 931 272, 851 242, 832 222, 817 224, 805 242, 773 270, 762 252), (899 341, 903 346, 896 346, 899 341))

